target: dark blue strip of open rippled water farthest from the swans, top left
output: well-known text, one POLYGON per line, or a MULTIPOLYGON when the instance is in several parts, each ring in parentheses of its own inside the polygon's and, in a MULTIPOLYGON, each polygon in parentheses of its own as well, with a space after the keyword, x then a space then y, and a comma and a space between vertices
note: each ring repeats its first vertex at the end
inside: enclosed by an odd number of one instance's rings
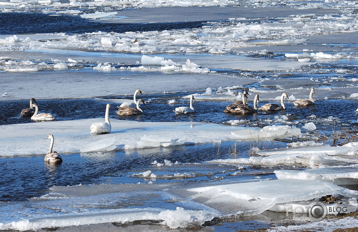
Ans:
POLYGON ((65 32, 91 33, 97 31, 118 32, 151 31, 196 28, 203 26, 202 21, 165 22, 165 23, 108 23, 99 22, 75 15, 54 15, 45 13, 0 13, 0 34, 29 34, 65 32))

